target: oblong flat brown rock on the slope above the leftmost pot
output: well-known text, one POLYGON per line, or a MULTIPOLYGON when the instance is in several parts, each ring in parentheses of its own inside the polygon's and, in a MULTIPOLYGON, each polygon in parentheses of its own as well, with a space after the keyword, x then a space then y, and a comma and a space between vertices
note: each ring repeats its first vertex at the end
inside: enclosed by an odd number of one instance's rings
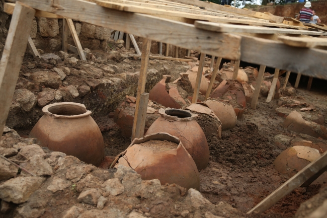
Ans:
POLYGON ((35 85, 45 86, 51 89, 58 89, 61 83, 61 78, 57 72, 37 71, 30 77, 35 85))

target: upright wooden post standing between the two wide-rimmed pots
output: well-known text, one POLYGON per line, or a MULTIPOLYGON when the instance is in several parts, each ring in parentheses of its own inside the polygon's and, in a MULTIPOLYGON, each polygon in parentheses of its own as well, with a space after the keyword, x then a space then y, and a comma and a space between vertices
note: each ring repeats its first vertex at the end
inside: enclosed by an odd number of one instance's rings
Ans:
MULTIPOLYGON (((135 105, 135 113, 134 113, 134 121, 133 121, 132 140, 141 134, 142 129, 144 133, 145 117, 144 117, 144 123, 142 123, 143 120, 142 114, 144 113, 142 112, 142 109, 143 111, 145 110, 145 115, 146 115, 147 106, 143 107, 143 105, 141 105, 142 102, 144 102, 144 98, 145 98, 143 97, 143 100, 141 101, 141 94, 143 94, 145 90, 150 49, 151 49, 151 40, 144 38, 143 45, 142 45, 140 76, 138 78, 137 93, 136 93, 136 105, 135 105)), ((148 94, 147 94, 147 98, 148 98, 148 94)))

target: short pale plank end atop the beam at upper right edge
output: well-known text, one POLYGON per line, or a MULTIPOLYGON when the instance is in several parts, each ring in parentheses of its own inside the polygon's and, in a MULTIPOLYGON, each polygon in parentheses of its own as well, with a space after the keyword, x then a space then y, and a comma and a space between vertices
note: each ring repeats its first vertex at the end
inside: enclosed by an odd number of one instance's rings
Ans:
POLYGON ((313 48, 315 46, 327 46, 327 39, 325 38, 279 36, 278 39, 286 45, 294 47, 313 48))

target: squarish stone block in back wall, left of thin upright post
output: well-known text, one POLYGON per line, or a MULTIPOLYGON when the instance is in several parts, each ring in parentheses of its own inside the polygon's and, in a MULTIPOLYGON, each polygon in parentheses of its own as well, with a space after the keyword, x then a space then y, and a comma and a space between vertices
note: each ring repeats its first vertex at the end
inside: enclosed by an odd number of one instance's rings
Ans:
POLYGON ((58 19, 37 18, 39 30, 43 37, 55 37, 59 34, 58 19))

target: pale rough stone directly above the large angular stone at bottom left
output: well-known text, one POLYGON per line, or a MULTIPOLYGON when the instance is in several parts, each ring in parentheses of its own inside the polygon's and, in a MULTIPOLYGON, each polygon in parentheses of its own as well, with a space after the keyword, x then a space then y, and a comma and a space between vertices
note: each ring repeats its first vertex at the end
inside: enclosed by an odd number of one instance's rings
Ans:
MULTIPOLYGON (((30 161, 21 163, 23 168, 37 176, 51 176, 53 174, 52 167, 40 156, 33 156, 30 161)), ((24 175, 29 175, 25 171, 24 175)))

